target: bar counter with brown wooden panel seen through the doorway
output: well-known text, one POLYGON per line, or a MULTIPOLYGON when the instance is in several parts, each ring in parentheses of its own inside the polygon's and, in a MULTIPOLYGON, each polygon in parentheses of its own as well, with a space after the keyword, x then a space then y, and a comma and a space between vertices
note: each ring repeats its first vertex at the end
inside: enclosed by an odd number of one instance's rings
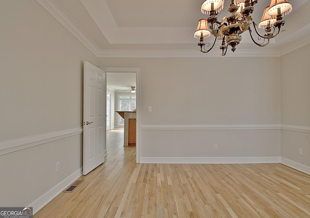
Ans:
POLYGON ((136 112, 116 111, 124 118, 124 146, 136 146, 136 112))

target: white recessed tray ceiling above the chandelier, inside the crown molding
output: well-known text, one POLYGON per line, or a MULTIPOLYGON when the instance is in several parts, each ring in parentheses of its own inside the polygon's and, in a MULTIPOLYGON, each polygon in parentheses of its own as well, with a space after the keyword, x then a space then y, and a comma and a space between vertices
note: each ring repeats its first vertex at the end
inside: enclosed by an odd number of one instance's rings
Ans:
MULTIPOLYGON (((291 0, 293 13, 307 1, 291 0)), ((197 51, 197 40, 194 39, 193 33, 198 20, 207 17, 200 11, 202 0, 58 0, 58 2, 102 50, 195 49, 197 51)), ((269 4, 270 0, 259 0, 254 5, 252 17, 256 22, 261 20, 263 9, 269 4)), ((224 9, 218 15, 219 21, 223 16, 229 15, 227 12, 229 5, 230 0, 226 0, 224 9)), ((288 25, 285 25, 285 28, 286 26, 288 25)), ((243 40, 238 47, 253 47, 248 33, 242 37, 243 40)))

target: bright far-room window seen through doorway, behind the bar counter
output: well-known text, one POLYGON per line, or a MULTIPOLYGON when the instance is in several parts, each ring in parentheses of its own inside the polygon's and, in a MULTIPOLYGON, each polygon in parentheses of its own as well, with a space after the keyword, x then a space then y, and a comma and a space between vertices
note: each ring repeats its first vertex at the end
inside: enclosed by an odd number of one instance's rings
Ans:
MULTIPOLYGON (((118 95, 118 110, 119 111, 133 111, 137 107, 136 95, 133 94, 119 94, 118 95)), ((118 116, 118 125, 124 125, 124 119, 118 116)))

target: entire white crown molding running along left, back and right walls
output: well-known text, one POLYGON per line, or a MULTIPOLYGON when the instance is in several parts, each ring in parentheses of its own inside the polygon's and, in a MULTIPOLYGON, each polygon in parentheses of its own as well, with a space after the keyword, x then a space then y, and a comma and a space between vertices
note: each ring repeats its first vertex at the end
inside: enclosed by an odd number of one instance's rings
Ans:
MULTIPOLYGON (((57 0, 36 0, 47 12, 58 20, 64 28, 71 32, 82 44, 84 44, 97 58, 219 58, 221 51, 214 50, 208 54, 192 50, 109 50, 101 49, 78 23, 69 15, 57 0)), ((310 36, 281 49, 237 49, 233 55, 228 51, 225 58, 243 57, 281 57, 306 44, 310 43, 310 36)))

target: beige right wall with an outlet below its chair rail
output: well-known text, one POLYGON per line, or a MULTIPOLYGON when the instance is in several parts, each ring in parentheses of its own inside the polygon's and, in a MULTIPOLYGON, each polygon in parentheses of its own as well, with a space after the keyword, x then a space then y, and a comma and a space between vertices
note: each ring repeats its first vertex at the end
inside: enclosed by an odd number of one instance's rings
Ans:
POLYGON ((281 156, 310 167, 310 44, 281 57, 281 156), (298 155, 298 148, 303 155, 298 155))

